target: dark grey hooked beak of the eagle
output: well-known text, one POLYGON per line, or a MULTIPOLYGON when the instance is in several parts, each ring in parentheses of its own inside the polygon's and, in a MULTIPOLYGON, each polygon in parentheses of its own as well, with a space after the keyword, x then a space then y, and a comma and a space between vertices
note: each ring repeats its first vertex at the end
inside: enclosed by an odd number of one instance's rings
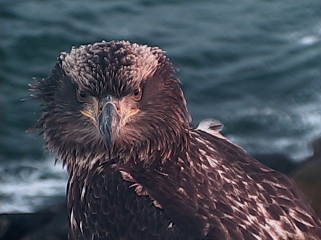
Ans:
POLYGON ((120 116, 118 101, 112 96, 100 99, 97 118, 100 133, 104 137, 107 147, 110 147, 119 129, 120 116))

